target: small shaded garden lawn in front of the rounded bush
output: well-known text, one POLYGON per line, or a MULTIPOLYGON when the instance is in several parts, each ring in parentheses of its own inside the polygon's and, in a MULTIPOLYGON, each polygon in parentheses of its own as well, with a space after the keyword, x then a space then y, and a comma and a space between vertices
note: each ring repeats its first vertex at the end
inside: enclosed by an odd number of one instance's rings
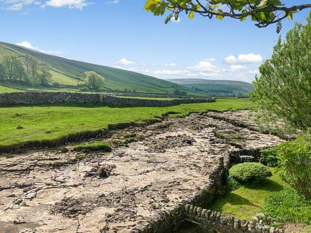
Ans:
POLYGON ((261 212, 267 196, 287 187, 277 174, 277 169, 271 168, 271 171, 273 176, 263 183, 241 186, 225 195, 224 198, 216 200, 209 208, 241 220, 250 220, 261 212))

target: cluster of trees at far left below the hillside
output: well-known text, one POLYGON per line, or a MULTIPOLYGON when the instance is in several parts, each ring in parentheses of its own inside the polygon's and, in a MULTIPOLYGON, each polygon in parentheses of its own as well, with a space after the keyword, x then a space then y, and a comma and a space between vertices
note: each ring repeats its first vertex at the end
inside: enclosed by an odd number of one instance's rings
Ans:
POLYGON ((0 58, 0 82, 46 85, 51 78, 51 69, 39 65, 30 55, 22 58, 16 55, 4 55, 0 58))

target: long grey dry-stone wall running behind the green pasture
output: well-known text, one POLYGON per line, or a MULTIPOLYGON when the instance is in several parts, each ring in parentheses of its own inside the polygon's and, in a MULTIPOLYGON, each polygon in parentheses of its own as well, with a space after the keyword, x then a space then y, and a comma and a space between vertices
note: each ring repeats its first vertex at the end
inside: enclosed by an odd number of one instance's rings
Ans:
POLYGON ((215 99, 146 100, 76 92, 15 92, 0 94, 0 106, 39 104, 96 104, 110 106, 168 106, 215 102, 215 99))

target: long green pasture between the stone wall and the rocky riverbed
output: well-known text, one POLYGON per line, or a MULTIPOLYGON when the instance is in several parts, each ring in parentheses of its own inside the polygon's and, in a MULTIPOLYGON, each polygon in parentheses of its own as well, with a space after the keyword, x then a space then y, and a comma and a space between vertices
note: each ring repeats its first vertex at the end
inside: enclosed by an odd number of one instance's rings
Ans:
POLYGON ((247 99, 218 99, 213 103, 191 103, 168 107, 108 107, 90 105, 20 106, 0 108, 0 146, 34 140, 57 140, 72 133, 107 129, 109 124, 144 122, 171 112, 187 116, 206 110, 248 109, 247 99), (18 126, 23 129, 17 130, 18 126), (46 133, 51 131, 51 133, 46 133))

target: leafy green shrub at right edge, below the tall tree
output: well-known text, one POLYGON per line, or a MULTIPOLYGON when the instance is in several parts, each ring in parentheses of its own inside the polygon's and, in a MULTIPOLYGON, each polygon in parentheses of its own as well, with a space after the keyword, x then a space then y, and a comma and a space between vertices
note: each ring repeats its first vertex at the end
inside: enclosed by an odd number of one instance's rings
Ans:
MULTIPOLYGON (((307 133, 306 137, 309 137, 307 133)), ((306 199, 311 200, 311 142, 283 143, 277 156, 281 178, 306 199)))

